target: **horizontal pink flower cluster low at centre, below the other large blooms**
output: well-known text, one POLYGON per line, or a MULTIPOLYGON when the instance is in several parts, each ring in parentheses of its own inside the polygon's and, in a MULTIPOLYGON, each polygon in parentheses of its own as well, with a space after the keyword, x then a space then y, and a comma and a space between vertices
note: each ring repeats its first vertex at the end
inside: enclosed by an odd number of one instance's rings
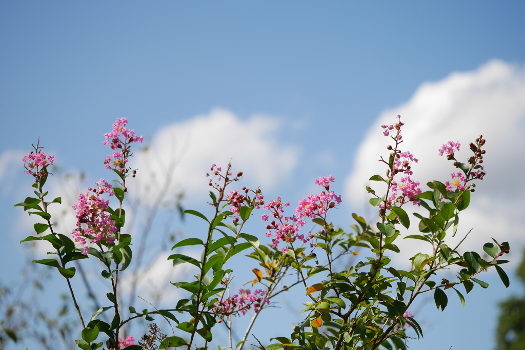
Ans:
POLYGON ((232 314, 246 315, 246 312, 250 309, 254 309, 255 313, 258 313, 265 304, 269 304, 270 301, 266 299, 266 292, 257 289, 251 294, 249 289, 239 289, 239 294, 217 301, 212 309, 214 313, 220 313, 225 316, 232 314))

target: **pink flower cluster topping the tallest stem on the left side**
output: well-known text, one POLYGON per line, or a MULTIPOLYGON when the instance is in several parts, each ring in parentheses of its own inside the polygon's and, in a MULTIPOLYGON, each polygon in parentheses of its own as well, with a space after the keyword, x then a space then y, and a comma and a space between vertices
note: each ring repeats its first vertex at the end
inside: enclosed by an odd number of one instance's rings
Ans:
POLYGON ((106 164, 107 169, 114 167, 118 169, 122 174, 125 173, 125 164, 128 163, 128 158, 130 154, 130 143, 144 141, 144 137, 135 136, 135 131, 127 130, 126 124, 128 120, 126 118, 117 118, 113 123, 113 131, 104 134, 106 140, 104 140, 103 145, 106 146, 109 144, 113 153, 111 156, 106 156, 104 164, 106 164), (122 134, 122 140, 120 135, 122 134), (113 158, 113 159, 112 159, 113 158))

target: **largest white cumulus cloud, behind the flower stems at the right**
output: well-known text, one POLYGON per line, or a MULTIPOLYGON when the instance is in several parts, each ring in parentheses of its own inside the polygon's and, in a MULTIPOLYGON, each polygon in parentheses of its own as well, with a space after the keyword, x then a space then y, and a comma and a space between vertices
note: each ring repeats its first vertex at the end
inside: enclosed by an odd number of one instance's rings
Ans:
MULTIPOLYGON (((521 161, 525 67, 491 60, 477 70, 454 72, 443 80, 425 82, 408 102, 381 113, 367 132, 353 171, 346 179, 346 194, 353 203, 367 203, 365 186, 380 189, 380 183, 368 179, 373 174, 385 174, 386 168, 377 160, 380 155, 388 155, 386 146, 392 144, 392 139, 383 136, 381 125, 394 123, 397 114, 401 114, 405 123, 402 150, 419 158, 412 170, 413 178, 422 184, 433 179, 445 182, 455 170, 452 162, 438 155, 442 144, 459 141, 462 146, 456 158, 466 162, 471 155, 468 144, 483 135, 487 140, 484 157, 487 175, 478 182, 470 207, 460 216, 456 236, 474 228, 464 249, 480 251, 482 244, 491 241, 490 237, 497 237, 499 241, 508 240, 511 249, 521 254, 525 243, 522 232, 525 214, 520 206, 525 195, 525 184, 520 179, 525 171, 521 161)), ((414 208, 406 209, 411 212, 414 208)), ((417 227, 417 219, 411 220, 417 227)), ((402 243, 413 253, 423 251, 422 244, 415 240, 402 243)), ((407 257, 402 259, 407 261, 407 257)))

